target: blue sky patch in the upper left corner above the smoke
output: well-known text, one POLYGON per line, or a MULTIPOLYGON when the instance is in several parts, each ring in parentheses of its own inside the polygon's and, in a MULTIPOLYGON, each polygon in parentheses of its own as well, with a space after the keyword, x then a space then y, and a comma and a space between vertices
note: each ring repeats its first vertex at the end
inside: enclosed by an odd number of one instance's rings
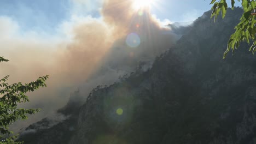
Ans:
POLYGON ((67 19, 70 3, 51 0, 1 0, 0 16, 8 16, 24 30, 50 31, 67 19))

